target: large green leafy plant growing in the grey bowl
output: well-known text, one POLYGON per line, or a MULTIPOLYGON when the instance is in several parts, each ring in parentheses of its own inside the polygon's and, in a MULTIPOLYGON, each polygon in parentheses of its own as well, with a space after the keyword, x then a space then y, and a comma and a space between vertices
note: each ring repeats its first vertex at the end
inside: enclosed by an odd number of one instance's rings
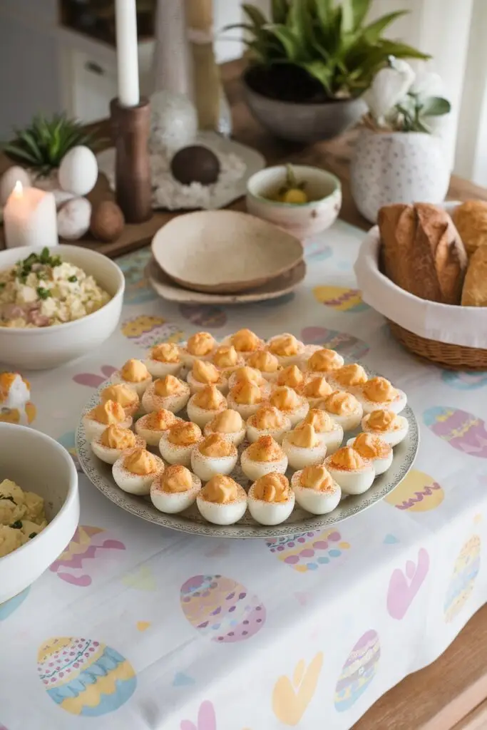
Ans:
POLYGON ((244 42, 254 64, 264 67, 298 66, 318 81, 327 99, 359 96, 388 57, 428 55, 383 37, 383 32, 407 11, 391 12, 367 24, 372 0, 272 0, 271 18, 255 6, 243 4, 248 23, 244 42))

